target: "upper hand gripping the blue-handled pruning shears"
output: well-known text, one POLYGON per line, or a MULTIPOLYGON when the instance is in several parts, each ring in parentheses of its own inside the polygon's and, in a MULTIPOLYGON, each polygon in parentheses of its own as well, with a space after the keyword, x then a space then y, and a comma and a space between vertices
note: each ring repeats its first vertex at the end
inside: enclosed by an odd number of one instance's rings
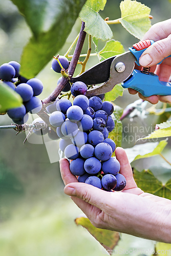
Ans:
MULTIPOLYGON (((142 40, 154 40, 155 43, 149 46, 141 55, 139 62, 142 67, 152 67, 151 72, 159 76, 159 80, 168 82, 171 74, 171 57, 164 59, 171 54, 171 19, 153 25, 144 35, 142 40), (162 59, 160 65, 156 65, 162 59)), ((137 91, 129 89, 130 94, 136 94, 137 91)), ((141 99, 156 104, 159 100, 171 103, 171 96, 153 95, 144 97, 140 93, 141 99)))

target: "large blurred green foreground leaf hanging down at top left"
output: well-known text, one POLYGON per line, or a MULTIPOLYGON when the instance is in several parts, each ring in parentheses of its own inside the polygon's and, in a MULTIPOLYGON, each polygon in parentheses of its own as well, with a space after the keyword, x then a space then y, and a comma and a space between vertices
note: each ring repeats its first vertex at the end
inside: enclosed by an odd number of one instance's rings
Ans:
POLYGON ((33 36, 24 48, 20 74, 36 76, 59 53, 85 0, 12 0, 25 16, 33 36))

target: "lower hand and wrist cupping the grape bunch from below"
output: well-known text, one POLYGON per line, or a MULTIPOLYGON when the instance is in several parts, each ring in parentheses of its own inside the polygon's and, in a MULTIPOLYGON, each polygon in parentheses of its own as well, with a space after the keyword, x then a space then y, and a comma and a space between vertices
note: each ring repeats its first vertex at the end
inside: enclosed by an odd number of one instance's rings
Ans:
POLYGON ((78 182, 70 172, 68 160, 61 159, 65 193, 98 228, 170 243, 170 200, 144 193, 137 187, 123 148, 116 148, 116 157, 121 165, 120 173, 126 178, 123 191, 108 192, 78 182))

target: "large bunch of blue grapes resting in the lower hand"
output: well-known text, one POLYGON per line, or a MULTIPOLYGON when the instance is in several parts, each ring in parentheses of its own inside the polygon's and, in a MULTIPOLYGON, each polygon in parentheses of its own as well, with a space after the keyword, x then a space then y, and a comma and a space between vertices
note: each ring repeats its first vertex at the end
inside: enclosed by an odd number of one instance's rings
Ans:
POLYGON ((73 105, 66 98, 57 99, 47 107, 49 121, 56 127, 59 148, 70 161, 71 173, 78 182, 91 184, 106 191, 120 191, 126 185, 119 174, 120 163, 112 157, 115 142, 108 138, 115 122, 114 106, 98 96, 88 98, 87 86, 72 84, 73 105))

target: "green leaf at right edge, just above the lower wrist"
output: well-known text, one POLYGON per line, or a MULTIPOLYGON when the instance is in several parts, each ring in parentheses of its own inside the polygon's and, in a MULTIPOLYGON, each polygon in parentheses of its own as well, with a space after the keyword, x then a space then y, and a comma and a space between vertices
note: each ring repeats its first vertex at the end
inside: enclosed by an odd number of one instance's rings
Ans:
POLYGON ((155 178, 150 170, 142 170, 142 172, 138 172, 138 170, 135 168, 134 179, 137 186, 140 187, 144 192, 171 200, 171 179, 163 184, 161 181, 155 178))

